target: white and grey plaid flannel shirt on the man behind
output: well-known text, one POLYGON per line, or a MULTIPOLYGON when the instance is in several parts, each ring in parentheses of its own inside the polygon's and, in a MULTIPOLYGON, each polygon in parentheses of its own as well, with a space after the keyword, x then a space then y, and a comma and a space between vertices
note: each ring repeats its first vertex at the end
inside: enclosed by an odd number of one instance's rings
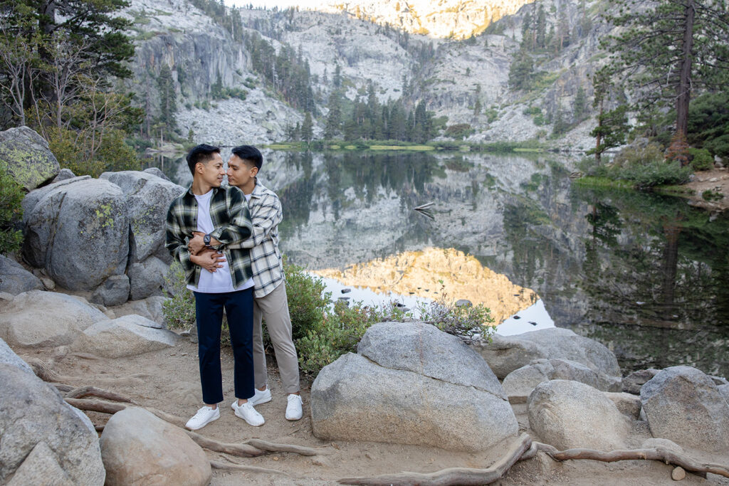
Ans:
POLYGON ((278 249, 278 223, 284 218, 276 192, 256 180, 248 203, 253 223, 251 238, 230 248, 250 248, 254 296, 265 297, 284 281, 284 263, 278 249))

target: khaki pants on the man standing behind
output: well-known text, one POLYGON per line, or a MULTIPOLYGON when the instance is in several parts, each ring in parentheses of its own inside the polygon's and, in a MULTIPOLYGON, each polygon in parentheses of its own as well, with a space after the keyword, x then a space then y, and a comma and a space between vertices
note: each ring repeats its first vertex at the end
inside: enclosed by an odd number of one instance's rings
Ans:
POLYGON ((253 369, 256 388, 268 385, 266 372, 266 355, 263 350, 261 324, 266 321, 268 335, 276 352, 278 371, 284 393, 299 391, 299 361, 291 333, 291 317, 289 303, 286 300, 286 283, 276 287, 265 297, 253 299, 253 369))

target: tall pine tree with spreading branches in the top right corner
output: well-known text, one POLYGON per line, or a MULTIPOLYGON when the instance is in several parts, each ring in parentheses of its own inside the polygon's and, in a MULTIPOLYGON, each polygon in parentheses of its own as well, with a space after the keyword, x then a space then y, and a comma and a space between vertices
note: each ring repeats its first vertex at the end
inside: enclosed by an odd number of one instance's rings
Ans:
POLYGON ((692 92, 729 87, 727 3, 657 0, 647 8, 636 8, 637 0, 616 3, 618 15, 608 20, 623 31, 604 43, 616 52, 615 71, 639 100, 639 111, 674 103, 676 131, 686 136, 692 92))

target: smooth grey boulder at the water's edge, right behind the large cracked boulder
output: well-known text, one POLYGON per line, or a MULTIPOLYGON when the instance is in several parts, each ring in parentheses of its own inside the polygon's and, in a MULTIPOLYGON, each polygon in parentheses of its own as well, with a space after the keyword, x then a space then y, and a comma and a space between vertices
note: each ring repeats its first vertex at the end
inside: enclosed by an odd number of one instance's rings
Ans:
POLYGON ((577 361, 606 375, 604 380, 608 381, 620 380, 621 376, 617 358, 612 351, 595 340, 559 327, 515 336, 494 334, 491 343, 480 348, 480 353, 501 380, 515 369, 539 358, 577 361))

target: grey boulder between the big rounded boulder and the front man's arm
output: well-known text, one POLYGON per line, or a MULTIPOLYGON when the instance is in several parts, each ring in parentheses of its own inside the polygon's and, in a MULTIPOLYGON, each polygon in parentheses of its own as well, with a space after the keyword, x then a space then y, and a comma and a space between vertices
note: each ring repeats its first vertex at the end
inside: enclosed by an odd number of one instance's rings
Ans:
MULTIPOLYGON (((171 181, 162 179, 154 173, 141 171, 105 172, 100 179, 116 184, 127 196, 129 224, 133 247, 130 248, 133 262, 144 262, 149 256, 162 256, 171 262, 164 248, 165 217, 172 200, 185 189, 171 181)), ((135 285, 134 279, 132 287, 135 285)), ((148 297, 149 294, 133 299, 148 297)))

